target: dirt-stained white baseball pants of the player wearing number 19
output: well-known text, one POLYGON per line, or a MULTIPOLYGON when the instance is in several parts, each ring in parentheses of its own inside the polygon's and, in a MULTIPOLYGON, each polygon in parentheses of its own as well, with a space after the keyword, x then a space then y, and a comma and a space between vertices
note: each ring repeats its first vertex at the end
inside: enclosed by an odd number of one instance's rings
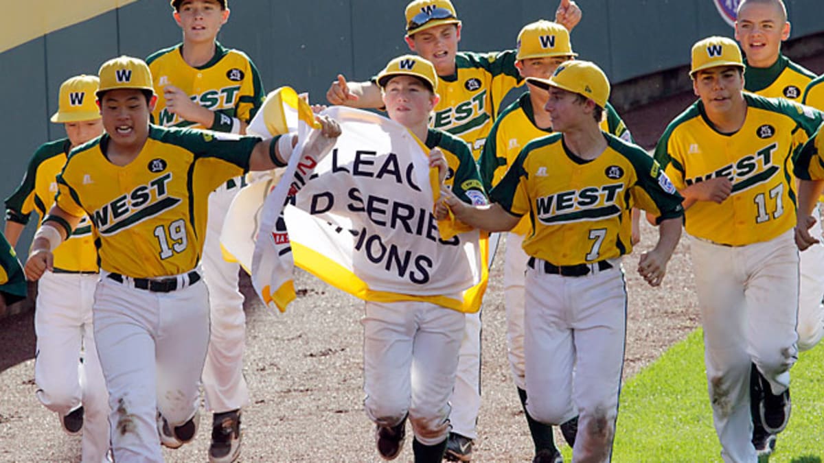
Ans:
POLYGON ((208 291, 203 281, 149 292, 101 273, 95 292, 95 339, 111 408, 115 461, 163 461, 159 411, 173 428, 199 407, 208 344, 208 291))

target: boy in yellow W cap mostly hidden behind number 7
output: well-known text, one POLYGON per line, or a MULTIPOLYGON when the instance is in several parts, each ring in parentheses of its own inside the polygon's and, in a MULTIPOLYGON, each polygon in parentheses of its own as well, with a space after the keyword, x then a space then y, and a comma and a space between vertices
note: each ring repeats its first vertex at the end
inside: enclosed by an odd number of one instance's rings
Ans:
MULTIPOLYGON (((569 41, 569 31, 556 22, 535 21, 524 26, 517 38, 517 61, 515 66, 522 77, 549 78, 555 69, 577 56, 569 41)), ((552 118, 545 110, 549 94, 534 87, 527 80, 527 88, 517 101, 509 105, 495 119, 478 161, 484 188, 490 191, 512 166, 522 148, 536 138, 553 133, 552 118)), ((605 106, 606 118, 601 121, 601 129, 618 138, 631 141, 630 131, 624 121, 608 102, 605 106)), ((633 244, 638 233, 638 215, 633 214, 633 244)), ((526 410, 527 391, 524 379, 523 356, 523 301, 524 269, 529 256, 521 244, 531 232, 531 224, 524 217, 512 231, 507 233, 506 254, 503 267, 504 305, 507 311, 507 346, 509 366, 517 386, 518 397, 524 407, 527 423, 535 444, 535 461, 557 461, 560 453, 555 448, 552 428, 532 419, 526 410)), ((564 437, 570 447, 574 446, 577 421, 561 425, 564 437)))

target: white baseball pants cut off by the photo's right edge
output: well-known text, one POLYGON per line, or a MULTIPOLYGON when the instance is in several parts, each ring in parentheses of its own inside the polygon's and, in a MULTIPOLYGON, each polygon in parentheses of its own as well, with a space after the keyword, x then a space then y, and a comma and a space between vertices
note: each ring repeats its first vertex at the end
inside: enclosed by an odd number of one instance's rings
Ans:
MULTIPOLYGON (((812 211, 816 217, 810 235, 822 239, 821 214, 818 208, 812 211)), ((814 348, 824 335, 824 246, 821 243, 810 246, 800 253, 801 280, 798 292, 798 350, 803 352, 814 348)))

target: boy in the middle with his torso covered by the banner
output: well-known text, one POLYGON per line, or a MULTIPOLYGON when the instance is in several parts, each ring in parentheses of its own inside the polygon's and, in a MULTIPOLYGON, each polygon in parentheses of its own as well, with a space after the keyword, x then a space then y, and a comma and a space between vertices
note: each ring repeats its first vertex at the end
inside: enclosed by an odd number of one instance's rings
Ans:
MULTIPOLYGON (((486 203, 469 147, 428 127, 438 104, 432 63, 414 55, 393 59, 377 76, 389 118, 432 150, 430 163, 452 175, 444 180, 461 201, 486 203)), ((363 318, 364 405, 377 423, 377 449, 398 456, 407 415, 414 428, 414 460, 442 461, 449 434, 449 398, 455 386, 466 317, 433 302, 366 302, 363 318)))

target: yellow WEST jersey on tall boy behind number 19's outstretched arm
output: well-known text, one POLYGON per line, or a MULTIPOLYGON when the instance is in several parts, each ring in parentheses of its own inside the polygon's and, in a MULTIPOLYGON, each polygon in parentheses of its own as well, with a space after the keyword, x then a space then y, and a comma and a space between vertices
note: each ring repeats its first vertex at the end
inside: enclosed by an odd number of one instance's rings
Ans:
POLYGON ((163 87, 173 85, 208 110, 215 111, 212 130, 230 132, 232 118, 249 122, 265 99, 260 73, 243 52, 224 48, 217 43, 211 61, 192 68, 183 59, 183 45, 162 49, 146 58, 152 71, 157 105, 152 111, 152 122, 164 127, 191 127, 199 124, 182 120, 166 110, 163 87))

